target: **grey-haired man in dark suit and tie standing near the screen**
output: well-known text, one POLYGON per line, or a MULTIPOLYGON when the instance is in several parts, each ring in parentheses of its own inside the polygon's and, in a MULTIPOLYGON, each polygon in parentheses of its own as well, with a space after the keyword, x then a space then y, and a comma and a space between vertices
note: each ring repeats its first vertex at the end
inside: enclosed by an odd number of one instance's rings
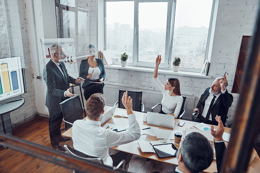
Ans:
POLYGON ((65 149, 59 144, 59 141, 67 141, 70 138, 62 137, 60 133, 63 114, 60 103, 69 97, 75 96, 69 92, 69 83, 76 84, 81 80, 80 77, 74 79, 68 76, 64 61, 66 55, 59 44, 50 47, 52 59, 43 69, 43 79, 47 85, 45 105, 49 109, 49 133, 53 149, 65 152, 65 149))

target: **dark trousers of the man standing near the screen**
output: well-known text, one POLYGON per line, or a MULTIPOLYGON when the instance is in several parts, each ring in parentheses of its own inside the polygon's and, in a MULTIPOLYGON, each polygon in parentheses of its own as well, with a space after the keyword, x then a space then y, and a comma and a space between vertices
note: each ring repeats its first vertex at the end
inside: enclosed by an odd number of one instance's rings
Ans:
POLYGON ((58 136, 61 136, 60 127, 63 119, 61 109, 49 109, 49 133, 52 146, 58 145, 58 136))

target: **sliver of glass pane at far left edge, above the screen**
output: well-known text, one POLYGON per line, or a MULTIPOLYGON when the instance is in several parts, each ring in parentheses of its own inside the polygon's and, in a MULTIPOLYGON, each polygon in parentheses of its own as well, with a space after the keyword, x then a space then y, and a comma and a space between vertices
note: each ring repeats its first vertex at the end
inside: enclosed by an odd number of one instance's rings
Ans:
POLYGON ((6 16, 3 1, 0 0, 0 58, 10 57, 6 16))

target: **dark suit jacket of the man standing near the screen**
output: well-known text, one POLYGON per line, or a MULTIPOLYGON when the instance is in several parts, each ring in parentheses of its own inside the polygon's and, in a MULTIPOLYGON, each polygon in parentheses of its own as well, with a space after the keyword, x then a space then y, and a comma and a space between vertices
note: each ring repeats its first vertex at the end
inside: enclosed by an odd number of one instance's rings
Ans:
POLYGON ((45 105, 49 109, 54 110, 60 109, 59 104, 69 98, 64 96, 64 92, 69 88, 69 83, 76 84, 76 79, 68 76, 64 63, 61 62, 60 64, 66 72, 67 80, 65 80, 62 72, 52 60, 50 60, 43 69, 43 79, 48 88, 45 105))

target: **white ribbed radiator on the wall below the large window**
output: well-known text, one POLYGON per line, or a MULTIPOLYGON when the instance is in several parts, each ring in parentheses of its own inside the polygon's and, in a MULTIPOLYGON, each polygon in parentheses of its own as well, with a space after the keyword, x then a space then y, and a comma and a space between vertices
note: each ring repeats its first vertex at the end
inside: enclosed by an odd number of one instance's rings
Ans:
MULTIPOLYGON (((125 90, 140 90, 136 88, 127 88, 113 85, 105 85, 104 95, 106 97, 106 105, 113 106, 115 102, 119 101, 119 89, 125 90)), ((192 120, 192 111, 194 109, 195 96, 185 95, 186 101, 184 104, 185 113, 182 119, 192 120)), ((145 105, 145 112, 151 111, 151 108, 157 103, 161 103, 162 94, 158 91, 143 91, 142 103, 145 105)), ((160 106, 154 109, 154 112, 159 112, 160 106)))

